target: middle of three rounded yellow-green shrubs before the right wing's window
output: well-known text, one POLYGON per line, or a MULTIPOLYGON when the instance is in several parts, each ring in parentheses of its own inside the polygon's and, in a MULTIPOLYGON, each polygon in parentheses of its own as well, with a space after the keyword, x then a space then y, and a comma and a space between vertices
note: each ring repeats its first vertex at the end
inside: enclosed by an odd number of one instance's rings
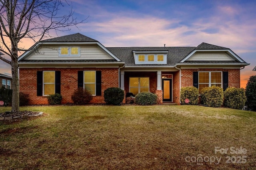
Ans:
POLYGON ((201 103, 209 107, 220 107, 223 103, 223 89, 216 86, 204 88, 201 92, 201 103))

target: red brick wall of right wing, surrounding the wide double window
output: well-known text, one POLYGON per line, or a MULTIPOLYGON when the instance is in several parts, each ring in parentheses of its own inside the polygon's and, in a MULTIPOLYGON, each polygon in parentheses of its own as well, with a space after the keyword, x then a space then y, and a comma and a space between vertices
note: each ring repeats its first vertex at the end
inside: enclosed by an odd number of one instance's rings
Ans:
POLYGON ((188 87, 193 86, 193 72, 194 71, 228 71, 228 87, 240 88, 240 69, 182 69, 181 74, 181 86, 188 87))

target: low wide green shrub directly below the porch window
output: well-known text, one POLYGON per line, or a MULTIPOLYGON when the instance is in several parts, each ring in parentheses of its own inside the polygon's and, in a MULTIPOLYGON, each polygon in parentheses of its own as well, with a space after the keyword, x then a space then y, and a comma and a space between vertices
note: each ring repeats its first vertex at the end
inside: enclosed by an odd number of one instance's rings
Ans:
POLYGON ((134 103, 139 105, 154 105, 157 104, 157 95, 151 92, 141 92, 136 94, 134 103))

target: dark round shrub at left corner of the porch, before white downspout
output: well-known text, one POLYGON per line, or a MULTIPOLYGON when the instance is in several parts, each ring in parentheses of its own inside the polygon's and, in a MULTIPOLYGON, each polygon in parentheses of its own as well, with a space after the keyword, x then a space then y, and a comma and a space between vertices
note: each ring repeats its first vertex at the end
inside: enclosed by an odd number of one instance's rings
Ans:
POLYGON ((121 105, 124 100, 124 90, 118 87, 110 87, 104 90, 104 101, 106 104, 121 105))

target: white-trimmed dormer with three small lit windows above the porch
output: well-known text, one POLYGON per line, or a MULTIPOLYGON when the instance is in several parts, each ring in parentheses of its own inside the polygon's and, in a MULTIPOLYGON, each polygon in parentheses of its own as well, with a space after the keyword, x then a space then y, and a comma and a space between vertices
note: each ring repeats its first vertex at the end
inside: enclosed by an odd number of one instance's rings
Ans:
POLYGON ((168 51, 132 51, 135 64, 167 64, 168 51))

